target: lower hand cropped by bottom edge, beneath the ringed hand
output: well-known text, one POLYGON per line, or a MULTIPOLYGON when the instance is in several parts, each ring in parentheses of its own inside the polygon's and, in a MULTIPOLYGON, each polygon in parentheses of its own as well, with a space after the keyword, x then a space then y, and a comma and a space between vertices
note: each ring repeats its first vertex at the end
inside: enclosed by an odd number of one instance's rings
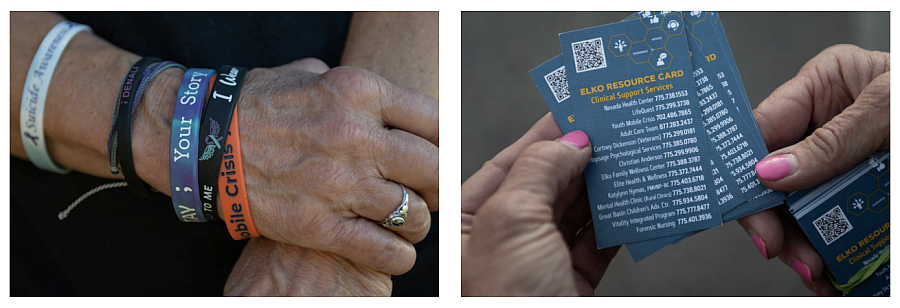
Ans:
POLYGON ((390 296, 391 276, 331 253, 253 238, 225 296, 390 296))

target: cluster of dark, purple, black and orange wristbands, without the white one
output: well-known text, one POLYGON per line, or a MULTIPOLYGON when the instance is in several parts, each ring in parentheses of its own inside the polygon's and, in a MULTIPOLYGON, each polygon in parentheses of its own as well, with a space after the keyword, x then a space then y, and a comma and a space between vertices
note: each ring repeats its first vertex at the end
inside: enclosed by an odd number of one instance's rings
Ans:
MULTIPOLYGON (((132 117, 146 85, 170 67, 186 69, 157 58, 135 63, 122 81, 110 124, 110 172, 121 171, 128 187, 141 196, 147 195, 147 186, 134 171, 132 117)), ((178 88, 169 141, 169 185, 178 219, 215 221, 221 211, 235 240, 259 236, 247 204, 235 108, 246 72, 245 68, 228 65, 218 72, 186 69, 178 88)))

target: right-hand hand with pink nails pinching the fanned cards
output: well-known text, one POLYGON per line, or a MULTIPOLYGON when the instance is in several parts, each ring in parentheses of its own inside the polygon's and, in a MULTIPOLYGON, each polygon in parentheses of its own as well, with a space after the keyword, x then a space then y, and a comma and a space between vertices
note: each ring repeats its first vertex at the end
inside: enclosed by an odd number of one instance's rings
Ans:
MULTIPOLYGON (((753 114, 766 146, 756 165, 763 185, 778 191, 815 186, 890 148, 890 54, 832 46, 797 77, 760 103, 753 114)), ((738 222, 763 257, 777 256, 820 295, 840 295, 823 275, 821 256, 781 209, 738 222)))

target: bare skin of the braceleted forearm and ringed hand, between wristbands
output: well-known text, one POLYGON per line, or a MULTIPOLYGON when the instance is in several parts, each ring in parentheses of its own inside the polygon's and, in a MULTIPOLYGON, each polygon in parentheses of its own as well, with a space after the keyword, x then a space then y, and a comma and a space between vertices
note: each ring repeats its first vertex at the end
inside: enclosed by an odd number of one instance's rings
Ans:
MULTIPOLYGON (((27 12, 10 17, 15 29, 10 87, 21 89, 44 34, 63 18, 27 12)), ((122 178, 109 173, 108 123, 121 78, 139 58, 89 33, 70 42, 53 75, 44 114, 55 162, 122 178)), ((170 194, 168 136, 183 73, 169 69, 158 75, 134 116, 137 174, 165 194, 170 194)), ((21 101, 21 91, 10 92, 11 102, 21 101)), ((11 114, 18 115, 19 104, 10 105, 11 114)), ((252 69, 238 108, 250 206, 263 236, 386 274, 412 267, 412 243, 425 237, 428 211, 438 209, 437 99, 363 69, 311 72, 297 61, 252 69), (404 226, 388 230, 376 221, 397 207, 401 191, 396 183, 408 187, 410 217, 404 226)), ((18 120, 11 117, 10 152, 27 159, 18 120)))

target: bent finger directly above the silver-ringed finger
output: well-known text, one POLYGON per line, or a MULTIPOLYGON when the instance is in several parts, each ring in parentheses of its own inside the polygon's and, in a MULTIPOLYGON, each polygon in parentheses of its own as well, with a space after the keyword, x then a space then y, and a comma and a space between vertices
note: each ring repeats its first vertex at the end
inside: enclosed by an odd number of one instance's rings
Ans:
POLYGON ((384 179, 405 185, 416 191, 428 209, 439 208, 439 150, 419 136, 407 131, 391 129, 378 144, 375 167, 384 179))

